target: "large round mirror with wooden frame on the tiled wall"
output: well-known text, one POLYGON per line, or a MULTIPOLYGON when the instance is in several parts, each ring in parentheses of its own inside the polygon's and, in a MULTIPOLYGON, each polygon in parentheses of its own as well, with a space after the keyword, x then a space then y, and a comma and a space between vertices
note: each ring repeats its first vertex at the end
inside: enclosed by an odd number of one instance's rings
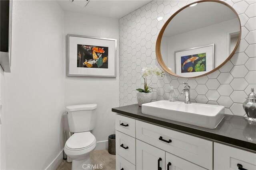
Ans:
POLYGON ((240 20, 231 6, 202 0, 184 6, 166 21, 156 41, 156 56, 174 76, 199 77, 223 66, 240 37, 240 20))

